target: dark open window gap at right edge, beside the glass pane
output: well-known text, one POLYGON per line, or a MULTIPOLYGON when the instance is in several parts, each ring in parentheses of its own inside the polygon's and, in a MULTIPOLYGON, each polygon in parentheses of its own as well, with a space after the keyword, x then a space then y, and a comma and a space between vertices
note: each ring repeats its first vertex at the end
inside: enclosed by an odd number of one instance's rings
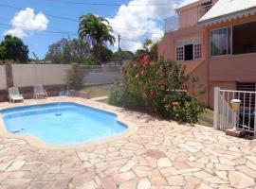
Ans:
POLYGON ((256 52, 256 22, 233 26, 233 55, 256 52))

